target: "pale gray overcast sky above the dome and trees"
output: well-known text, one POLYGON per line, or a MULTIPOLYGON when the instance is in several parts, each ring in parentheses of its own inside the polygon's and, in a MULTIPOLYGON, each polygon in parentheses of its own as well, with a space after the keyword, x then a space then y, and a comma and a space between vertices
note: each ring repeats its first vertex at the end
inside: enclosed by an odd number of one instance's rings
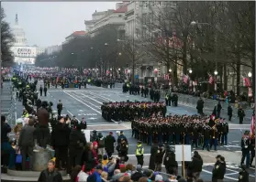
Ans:
POLYGON ((115 9, 117 2, 2 2, 6 21, 23 27, 28 45, 48 47, 61 44, 73 31, 85 30, 84 20, 97 11, 115 9))

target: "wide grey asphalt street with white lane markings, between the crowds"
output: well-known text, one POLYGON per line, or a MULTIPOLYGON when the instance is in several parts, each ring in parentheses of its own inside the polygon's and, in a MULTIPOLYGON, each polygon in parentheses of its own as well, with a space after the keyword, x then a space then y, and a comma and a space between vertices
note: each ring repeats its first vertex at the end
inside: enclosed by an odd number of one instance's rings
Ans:
MULTIPOLYGON (((41 82, 39 82, 40 84, 41 82)), ((39 86, 38 84, 38 86, 39 86)), ((129 162, 136 164, 135 150, 137 140, 131 137, 130 123, 117 123, 115 121, 107 122, 101 116, 101 105, 102 102, 123 102, 123 101, 150 101, 149 98, 142 98, 141 96, 129 95, 128 93, 123 93, 121 91, 120 84, 117 84, 116 88, 105 89, 95 86, 87 86, 86 89, 64 89, 61 88, 55 89, 50 88, 48 91, 47 97, 40 97, 42 101, 53 102, 53 111, 56 111, 56 105, 59 100, 63 103, 63 111, 61 115, 69 114, 70 116, 76 116, 78 120, 81 120, 83 117, 88 124, 88 130, 93 131, 97 130, 106 136, 110 131, 114 133, 117 137, 117 131, 124 131, 125 135, 128 137, 128 156, 129 162)), ((17 114, 21 114, 21 102, 17 102, 19 110, 17 114)), ((195 108, 187 107, 184 105, 179 105, 178 107, 168 107, 168 113, 173 114, 196 114, 195 108)), ((238 121, 229 123, 229 134, 228 134, 228 145, 217 146, 217 151, 207 152, 202 151, 201 148, 192 148, 192 151, 198 150, 199 153, 204 158, 204 170, 201 174, 205 180, 211 179, 211 172, 213 164, 215 163, 215 156, 220 154, 226 157, 228 163, 228 169, 226 173, 225 181, 236 181, 238 179, 239 172, 239 160, 240 160, 240 138, 241 132, 245 129, 249 129, 250 125, 248 124, 237 124, 238 121)), ((150 159, 150 146, 144 145, 145 148, 145 168, 149 165, 150 159)), ((174 149, 174 146, 172 145, 174 149)), ((117 155, 117 152, 114 154, 117 155)), ((181 166, 181 164, 180 164, 181 166)), ((253 179, 255 176, 254 168, 250 168, 250 179, 253 179)), ((163 167, 163 172, 164 167, 163 167)), ((179 169, 181 172, 181 168, 179 169)))

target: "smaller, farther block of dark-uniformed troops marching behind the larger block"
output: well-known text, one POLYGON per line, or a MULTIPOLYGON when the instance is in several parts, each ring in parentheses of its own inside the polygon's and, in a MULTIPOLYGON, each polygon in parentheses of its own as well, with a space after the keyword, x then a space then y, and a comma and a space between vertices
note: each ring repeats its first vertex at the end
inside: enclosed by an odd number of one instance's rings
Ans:
POLYGON ((106 121, 132 121, 152 114, 164 117, 167 112, 164 102, 105 102, 101 110, 106 121))

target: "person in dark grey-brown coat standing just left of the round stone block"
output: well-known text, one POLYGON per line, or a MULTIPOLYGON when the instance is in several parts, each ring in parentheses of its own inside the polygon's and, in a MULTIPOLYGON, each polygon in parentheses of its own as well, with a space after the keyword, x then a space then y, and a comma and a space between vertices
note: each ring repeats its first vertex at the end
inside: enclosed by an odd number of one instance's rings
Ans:
POLYGON ((28 125, 25 125, 18 139, 18 146, 21 148, 22 155, 22 169, 26 170, 26 158, 29 157, 29 169, 32 170, 33 165, 33 147, 36 140, 36 128, 34 127, 34 120, 29 119, 28 125))

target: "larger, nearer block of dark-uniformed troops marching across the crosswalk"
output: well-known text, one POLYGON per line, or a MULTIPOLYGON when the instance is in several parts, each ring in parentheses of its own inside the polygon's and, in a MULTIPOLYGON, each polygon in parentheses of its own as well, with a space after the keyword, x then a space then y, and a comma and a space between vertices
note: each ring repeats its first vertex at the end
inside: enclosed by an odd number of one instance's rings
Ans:
POLYGON ((152 115, 131 122, 132 135, 148 144, 201 145, 207 150, 218 144, 227 145, 228 123, 214 116, 168 115, 165 118, 152 115))

